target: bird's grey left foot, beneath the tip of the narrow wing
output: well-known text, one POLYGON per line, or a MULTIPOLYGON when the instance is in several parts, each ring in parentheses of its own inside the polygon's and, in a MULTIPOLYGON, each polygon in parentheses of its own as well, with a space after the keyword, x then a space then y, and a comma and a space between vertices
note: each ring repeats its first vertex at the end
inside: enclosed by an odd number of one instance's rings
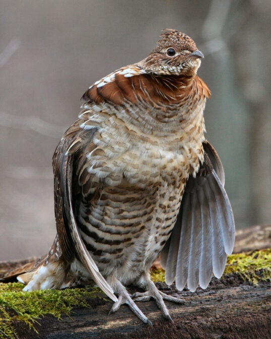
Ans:
POLYGON ((113 285, 113 289, 114 292, 118 294, 118 301, 116 301, 109 314, 116 312, 119 307, 123 304, 127 304, 130 308, 130 310, 137 315, 140 320, 142 320, 143 322, 145 322, 146 324, 149 324, 152 326, 151 321, 146 317, 146 315, 138 308, 138 306, 135 304, 135 302, 132 300, 130 294, 127 292, 127 290, 125 289, 125 287, 123 285, 121 285, 121 283, 116 280, 114 281, 114 285, 113 285))

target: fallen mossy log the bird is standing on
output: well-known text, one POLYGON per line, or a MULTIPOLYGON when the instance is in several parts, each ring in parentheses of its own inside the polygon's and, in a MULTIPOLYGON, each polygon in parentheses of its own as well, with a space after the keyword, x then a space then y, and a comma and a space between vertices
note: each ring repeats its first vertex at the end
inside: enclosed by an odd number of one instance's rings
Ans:
POLYGON ((151 327, 126 305, 109 315, 112 302, 98 288, 23 293, 21 284, 9 283, 0 284, 0 338, 271 337, 270 249, 229 256, 223 277, 194 293, 168 287, 159 263, 152 277, 161 291, 186 301, 166 302, 173 324, 162 317, 155 301, 138 303, 151 327))

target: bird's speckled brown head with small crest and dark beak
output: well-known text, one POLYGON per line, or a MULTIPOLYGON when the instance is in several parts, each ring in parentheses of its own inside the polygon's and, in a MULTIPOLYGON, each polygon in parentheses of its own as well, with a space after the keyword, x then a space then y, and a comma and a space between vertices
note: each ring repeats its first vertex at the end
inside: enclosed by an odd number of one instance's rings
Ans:
POLYGON ((166 30, 149 56, 139 66, 154 75, 194 76, 203 54, 186 34, 166 30))

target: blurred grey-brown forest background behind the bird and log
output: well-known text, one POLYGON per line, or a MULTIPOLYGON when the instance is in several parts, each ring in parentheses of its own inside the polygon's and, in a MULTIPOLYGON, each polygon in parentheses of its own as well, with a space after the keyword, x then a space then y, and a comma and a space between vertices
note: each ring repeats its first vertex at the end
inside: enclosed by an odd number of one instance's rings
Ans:
POLYGON ((96 80, 190 35, 237 229, 271 222, 270 0, 0 0, 0 260, 55 235, 51 158, 96 80))

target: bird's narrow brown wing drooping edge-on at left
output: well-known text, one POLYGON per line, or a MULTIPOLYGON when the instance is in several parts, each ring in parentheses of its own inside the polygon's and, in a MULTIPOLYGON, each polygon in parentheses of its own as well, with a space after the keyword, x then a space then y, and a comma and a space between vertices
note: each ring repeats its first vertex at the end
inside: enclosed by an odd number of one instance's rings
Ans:
POLYGON ((61 139, 53 156, 56 229, 62 254, 67 262, 76 257, 82 262, 100 289, 117 301, 110 285, 86 249, 77 225, 73 204, 73 178, 78 151, 90 142, 95 129, 84 131, 74 124, 61 139))

